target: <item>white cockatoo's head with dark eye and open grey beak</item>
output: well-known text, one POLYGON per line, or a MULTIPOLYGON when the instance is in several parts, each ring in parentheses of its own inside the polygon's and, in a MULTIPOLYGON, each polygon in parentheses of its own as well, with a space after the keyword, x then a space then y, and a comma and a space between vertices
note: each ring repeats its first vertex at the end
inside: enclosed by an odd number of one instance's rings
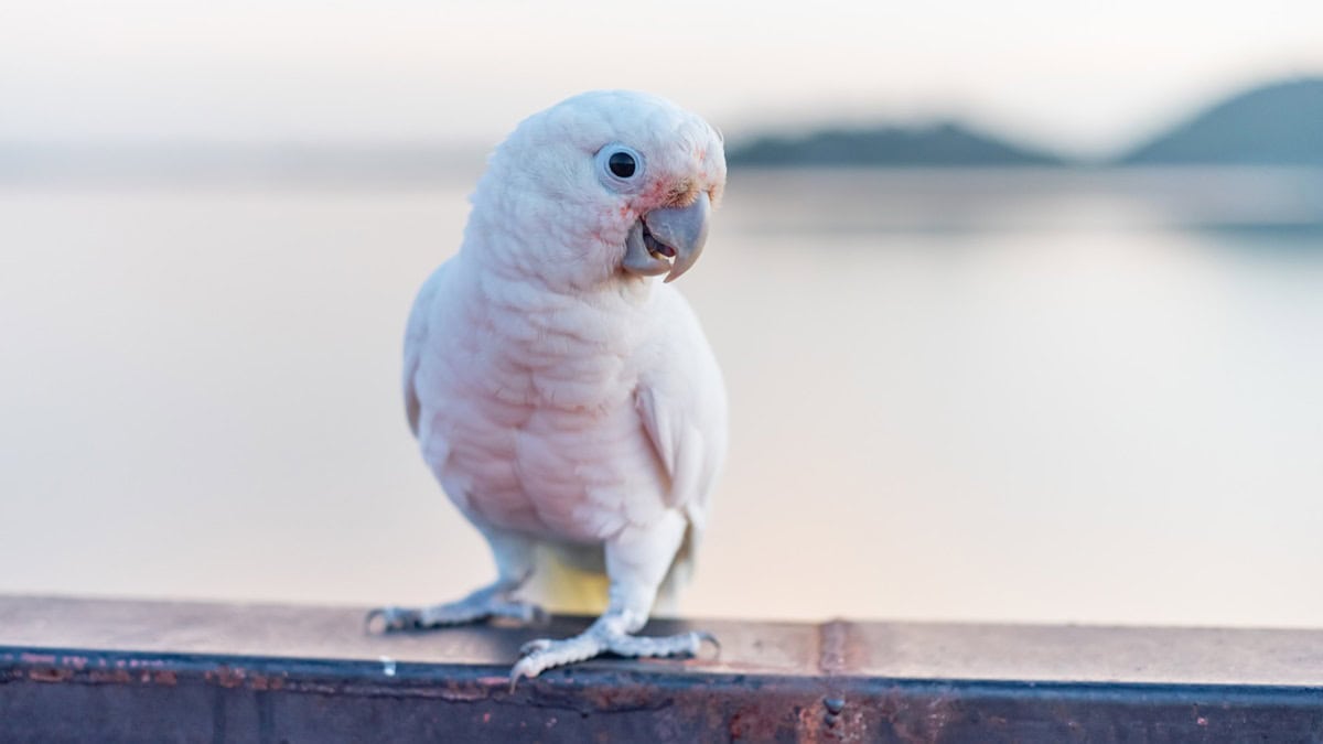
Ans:
POLYGON ((574 286, 613 277, 665 281, 703 252, 721 197, 721 135, 643 93, 594 91, 525 119, 488 160, 466 246, 574 286))

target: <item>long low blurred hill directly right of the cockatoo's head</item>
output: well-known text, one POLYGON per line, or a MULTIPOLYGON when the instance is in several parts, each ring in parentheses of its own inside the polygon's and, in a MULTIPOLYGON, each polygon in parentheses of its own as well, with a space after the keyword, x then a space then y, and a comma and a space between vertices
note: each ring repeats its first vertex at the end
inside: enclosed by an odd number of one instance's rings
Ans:
POLYGON ((796 165, 1061 165, 1062 159, 954 123, 931 127, 826 130, 803 136, 763 136, 733 147, 732 164, 796 165))

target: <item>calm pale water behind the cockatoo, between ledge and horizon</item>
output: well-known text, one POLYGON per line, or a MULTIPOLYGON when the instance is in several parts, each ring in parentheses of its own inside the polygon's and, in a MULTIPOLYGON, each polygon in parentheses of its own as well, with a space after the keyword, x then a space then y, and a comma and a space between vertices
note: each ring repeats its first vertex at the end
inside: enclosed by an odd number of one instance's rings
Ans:
MULTIPOLYGON (((0 191, 0 592, 488 580, 397 391, 466 181, 0 191)), ((685 610, 1323 625, 1311 221, 1308 173, 736 173, 685 610)))

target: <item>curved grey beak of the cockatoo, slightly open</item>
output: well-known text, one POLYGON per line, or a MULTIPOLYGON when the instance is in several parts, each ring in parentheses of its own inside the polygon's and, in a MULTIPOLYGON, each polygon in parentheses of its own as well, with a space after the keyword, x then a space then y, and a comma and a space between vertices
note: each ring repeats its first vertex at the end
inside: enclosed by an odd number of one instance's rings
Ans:
POLYGON ((693 267, 708 241, 708 214, 712 213, 712 200, 706 192, 688 207, 654 209, 634 225, 624 242, 627 271, 644 277, 655 277, 669 271, 665 281, 671 282, 693 267), (647 225, 647 234, 643 226, 647 225), (651 245, 650 245, 651 242, 651 245), (673 253, 667 261, 663 256, 673 253))

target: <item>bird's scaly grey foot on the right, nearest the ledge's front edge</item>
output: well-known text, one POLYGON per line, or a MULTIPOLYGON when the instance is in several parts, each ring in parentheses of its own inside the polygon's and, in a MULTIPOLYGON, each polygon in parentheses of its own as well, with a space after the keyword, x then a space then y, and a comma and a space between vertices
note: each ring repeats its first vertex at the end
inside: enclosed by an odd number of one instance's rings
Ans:
POLYGON ((717 651, 721 650, 716 637, 703 630, 679 635, 643 637, 590 628, 564 641, 538 638, 524 643, 520 649, 521 658, 509 671, 509 686, 513 688, 521 676, 532 679, 548 669, 587 661, 602 654, 628 658, 692 657, 697 655, 704 642, 712 643, 717 651))

